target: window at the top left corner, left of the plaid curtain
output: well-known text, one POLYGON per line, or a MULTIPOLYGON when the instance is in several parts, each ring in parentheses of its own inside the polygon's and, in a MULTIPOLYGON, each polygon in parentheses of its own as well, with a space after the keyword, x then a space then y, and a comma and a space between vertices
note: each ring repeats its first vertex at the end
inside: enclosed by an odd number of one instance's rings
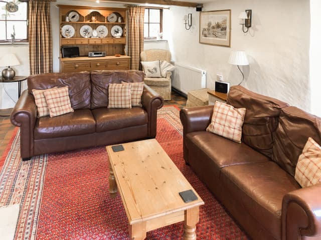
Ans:
POLYGON ((0 42, 28 41, 28 2, 16 1, 18 11, 7 11, 7 2, 0 2, 0 42))

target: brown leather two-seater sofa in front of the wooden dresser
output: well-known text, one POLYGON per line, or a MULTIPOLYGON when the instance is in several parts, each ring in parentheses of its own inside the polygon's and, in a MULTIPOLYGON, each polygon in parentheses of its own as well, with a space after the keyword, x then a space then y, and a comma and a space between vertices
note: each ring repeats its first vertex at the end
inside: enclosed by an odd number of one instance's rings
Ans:
POLYGON ((101 70, 45 73, 28 77, 28 90, 19 98, 11 121, 20 126, 21 157, 117 144, 156 135, 157 109, 164 100, 145 85, 142 107, 107 108, 108 84, 140 82, 142 71, 101 70), (74 112, 37 118, 32 89, 69 86, 74 112))

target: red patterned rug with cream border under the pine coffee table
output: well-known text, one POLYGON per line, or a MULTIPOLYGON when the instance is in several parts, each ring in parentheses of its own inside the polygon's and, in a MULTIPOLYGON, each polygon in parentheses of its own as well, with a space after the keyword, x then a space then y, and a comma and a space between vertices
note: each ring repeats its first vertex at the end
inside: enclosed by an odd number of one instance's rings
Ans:
MULTIPOLYGON (((19 131, 18 131, 19 133, 19 131)), ((198 239, 247 239, 225 209, 183 159, 179 109, 158 110, 157 141, 190 181, 205 205, 200 207, 198 239)), ((46 154, 20 160, 19 134, 7 149, 0 172, 0 206, 20 203, 15 239, 128 239, 119 194, 108 193, 105 147, 46 154)), ((183 224, 147 232, 146 239, 181 239, 183 224)))

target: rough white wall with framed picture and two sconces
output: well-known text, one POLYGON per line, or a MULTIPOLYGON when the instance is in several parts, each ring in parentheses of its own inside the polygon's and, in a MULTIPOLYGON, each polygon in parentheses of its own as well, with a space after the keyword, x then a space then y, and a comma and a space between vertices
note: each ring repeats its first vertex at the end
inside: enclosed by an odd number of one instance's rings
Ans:
POLYGON ((169 46, 176 62, 207 70, 207 86, 213 88, 216 74, 231 85, 242 79, 228 63, 232 50, 245 50, 249 66, 243 67, 243 86, 310 111, 309 0, 217 0, 204 4, 204 11, 231 9, 231 48, 199 43, 199 12, 195 8, 171 7, 172 36, 169 46), (238 15, 252 9, 252 27, 243 33, 238 15), (183 17, 192 15, 192 30, 183 17), (174 24, 173 24, 174 23, 174 24))

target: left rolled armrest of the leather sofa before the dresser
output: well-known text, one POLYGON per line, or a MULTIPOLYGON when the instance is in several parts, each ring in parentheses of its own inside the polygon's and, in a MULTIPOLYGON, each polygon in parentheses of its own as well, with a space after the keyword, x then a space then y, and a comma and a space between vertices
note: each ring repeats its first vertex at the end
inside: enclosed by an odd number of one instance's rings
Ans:
POLYGON ((18 99, 10 116, 11 122, 20 126, 21 157, 34 155, 34 128, 37 120, 37 106, 32 94, 25 90, 18 99))

